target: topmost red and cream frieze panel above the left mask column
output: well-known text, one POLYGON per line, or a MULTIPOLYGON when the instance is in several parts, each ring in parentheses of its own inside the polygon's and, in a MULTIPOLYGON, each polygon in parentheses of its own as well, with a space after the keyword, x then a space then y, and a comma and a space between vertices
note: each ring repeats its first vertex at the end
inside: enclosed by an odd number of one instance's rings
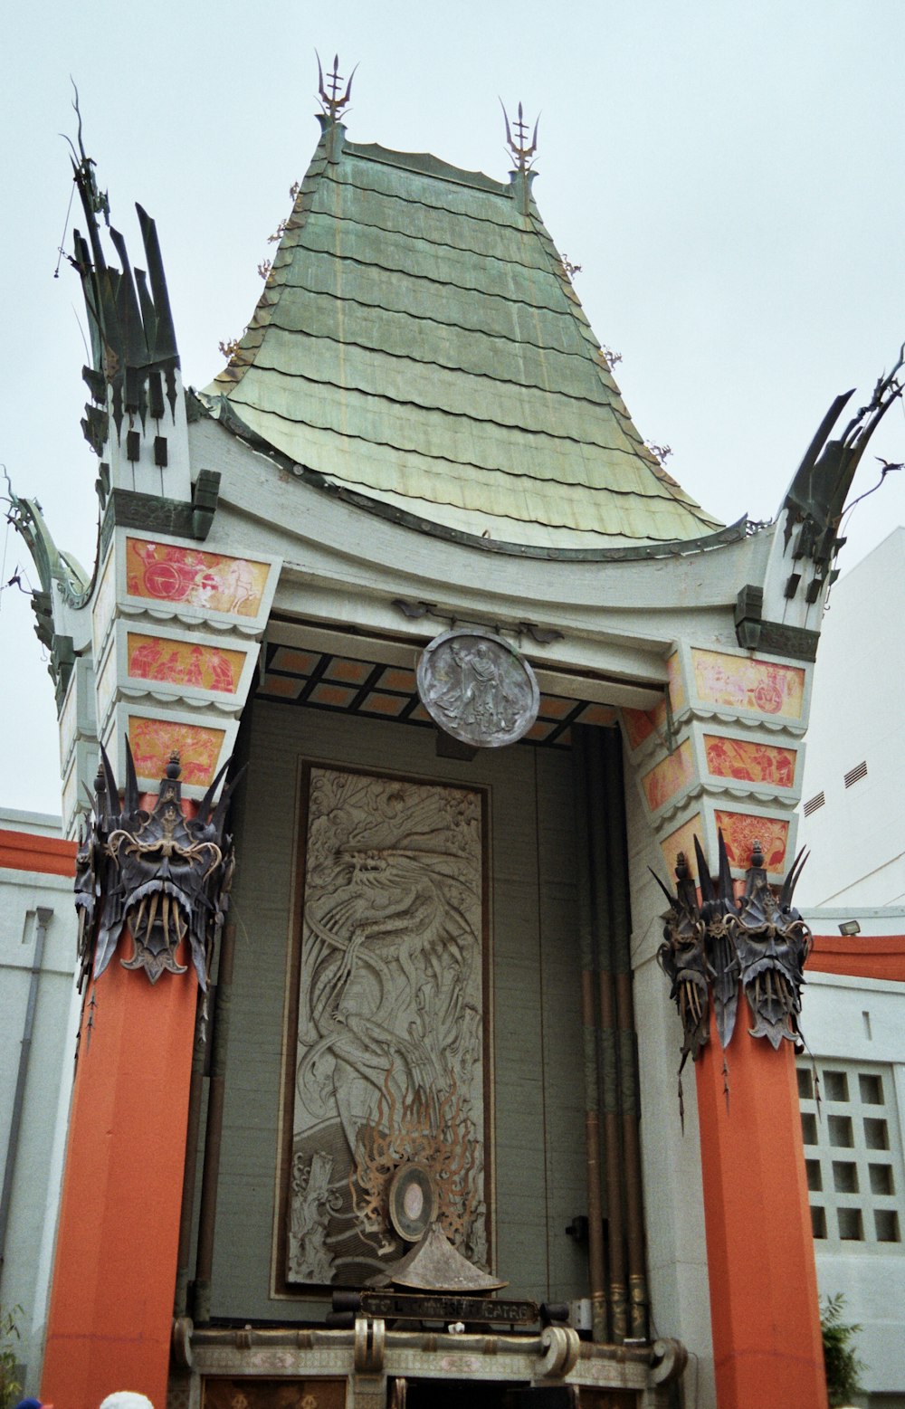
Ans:
POLYGON ((269 562, 202 552, 182 544, 125 538, 125 592, 173 607, 257 617, 269 562))

